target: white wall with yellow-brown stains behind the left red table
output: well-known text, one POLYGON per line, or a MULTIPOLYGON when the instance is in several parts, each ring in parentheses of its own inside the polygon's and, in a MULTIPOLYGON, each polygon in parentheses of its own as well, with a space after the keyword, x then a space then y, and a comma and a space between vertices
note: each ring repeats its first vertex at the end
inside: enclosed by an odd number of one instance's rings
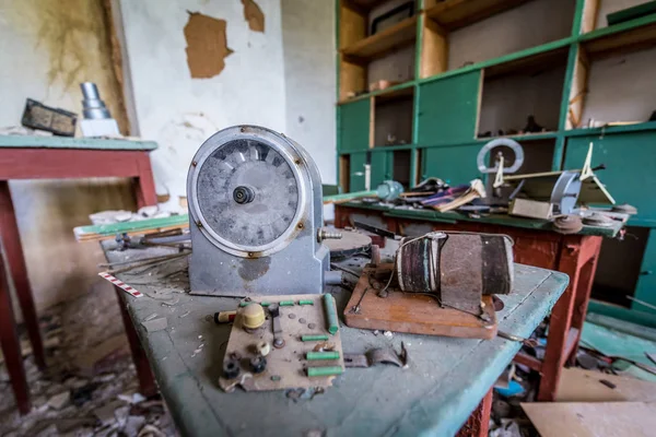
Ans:
MULTIPOLYGON (((93 81, 128 133, 108 42, 99 0, 0 1, 0 128, 21 125, 27 97, 81 113, 79 84, 93 81)), ((14 180, 10 189, 37 309, 86 293, 104 258, 72 228, 96 211, 133 209, 129 181, 14 180)))

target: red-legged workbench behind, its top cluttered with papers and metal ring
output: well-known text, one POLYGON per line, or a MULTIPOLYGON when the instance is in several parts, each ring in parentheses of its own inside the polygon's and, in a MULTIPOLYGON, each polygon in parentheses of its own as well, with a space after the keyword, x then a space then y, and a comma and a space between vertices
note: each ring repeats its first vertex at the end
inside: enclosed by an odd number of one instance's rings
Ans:
POLYGON ((383 203, 348 202, 335 208, 335 226, 352 226, 353 221, 380 226, 400 235, 422 235, 431 231, 465 231, 509 235, 515 262, 566 273, 570 286, 553 308, 543 359, 520 353, 515 357, 541 375, 537 399, 553 401, 564 364, 573 363, 597 270, 601 239, 618 236, 624 224, 609 227, 584 226, 573 235, 553 231, 551 222, 506 214, 476 215, 449 211, 411 209, 383 203))

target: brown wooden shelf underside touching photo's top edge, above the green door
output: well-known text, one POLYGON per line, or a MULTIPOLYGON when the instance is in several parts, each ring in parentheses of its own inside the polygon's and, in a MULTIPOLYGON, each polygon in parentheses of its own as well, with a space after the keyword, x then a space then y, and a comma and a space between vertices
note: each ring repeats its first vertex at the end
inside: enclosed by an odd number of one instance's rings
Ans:
POLYGON ((426 15, 447 31, 466 27, 530 0, 436 0, 426 1, 426 15))

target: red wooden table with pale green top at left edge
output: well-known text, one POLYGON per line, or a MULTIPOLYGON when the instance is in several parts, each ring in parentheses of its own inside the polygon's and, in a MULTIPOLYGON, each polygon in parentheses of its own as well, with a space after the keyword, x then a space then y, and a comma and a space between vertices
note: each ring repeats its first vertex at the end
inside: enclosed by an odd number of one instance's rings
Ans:
MULTIPOLYGON (((0 137, 0 240, 4 246, 8 272, 14 283, 34 359, 39 368, 46 365, 44 347, 9 180, 126 177, 133 180, 139 208, 152 205, 157 203, 157 199, 149 153, 156 146, 151 141, 0 137)), ((30 411, 31 403, 3 264, 0 263, 0 340, 16 403, 24 414, 30 411)), ((131 323, 126 324, 126 330, 130 329, 133 331, 131 323)), ((137 356, 132 342, 130 346, 137 356)))

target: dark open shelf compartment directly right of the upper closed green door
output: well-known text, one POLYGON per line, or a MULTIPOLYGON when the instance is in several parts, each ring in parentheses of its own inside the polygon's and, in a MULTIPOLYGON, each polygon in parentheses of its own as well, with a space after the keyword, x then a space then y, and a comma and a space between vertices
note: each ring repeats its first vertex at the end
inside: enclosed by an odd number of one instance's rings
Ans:
POLYGON ((477 138, 552 135, 559 129, 566 48, 483 70, 477 138), (529 116, 543 128, 526 131, 529 116), (490 132, 490 137, 482 133, 490 132))

